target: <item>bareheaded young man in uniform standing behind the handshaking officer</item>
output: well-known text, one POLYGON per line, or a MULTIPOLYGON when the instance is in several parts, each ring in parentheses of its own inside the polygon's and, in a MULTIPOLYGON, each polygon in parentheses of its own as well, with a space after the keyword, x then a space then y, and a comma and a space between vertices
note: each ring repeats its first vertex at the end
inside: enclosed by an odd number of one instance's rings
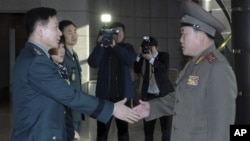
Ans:
MULTIPOLYGON (((59 23, 59 29, 62 32, 62 40, 65 44, 65 57, 63 65, 67 68, 69 74, 70 85, 77 90, 82 90, 82 69, 74 46, 78 40, 76 25, 69 20, 63 20, 59 23)), ((81 121, 84 119, 79 111, 72 110, 73 123, 75 130, 81 132, 81 121)))

